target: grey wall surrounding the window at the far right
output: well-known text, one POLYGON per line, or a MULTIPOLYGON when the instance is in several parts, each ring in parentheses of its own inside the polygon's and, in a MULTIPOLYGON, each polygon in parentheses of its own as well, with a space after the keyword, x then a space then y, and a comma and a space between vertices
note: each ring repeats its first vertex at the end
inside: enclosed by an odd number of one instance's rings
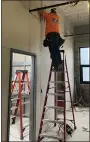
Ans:
MULTIPOLYGON (((75 27, 75 33, 88 33, 89 25, 83 25, 79 27, 75 27)), ((74 73, 75 78, 80 83, 80 47, 89 47, 90 36, 89 35, 80 35, 74 38, 74 73)), ((90 84, 80 84, 81 88, 83 88, 83 93, 85 97, 85 101, 89 102, 89 88, 90 84)))

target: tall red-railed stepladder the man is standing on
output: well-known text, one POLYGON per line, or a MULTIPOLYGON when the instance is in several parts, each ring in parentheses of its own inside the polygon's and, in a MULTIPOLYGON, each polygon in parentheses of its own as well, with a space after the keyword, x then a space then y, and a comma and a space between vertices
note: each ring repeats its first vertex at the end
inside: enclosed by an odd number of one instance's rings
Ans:
POLYGON ((74 129, 76 129, 66 56, 65 56, 64 50, 60 50, 60 52, 63 55, 63 63, 62 63, 63 69, 58 72, 54 71, 55 80, 51 81, 51 76, 52 76, 52 72, 53 72, 52 64, 51 64, 37 142, 43 141, 43 139, 46 139, 46 138, 58 140, 59 142, 62 142, 62 141, 66 142, 66 135, 67 134, 71 135, 71 133, 72 133, 71 127, 66 122, 67 120, 71 121, 74 124, 74 129), (56 80, 56 73, 61 73, 61 72, 63 73, 63 81, 57 81, 56 80), (67 78, 67 80, 66 80, 66 78, 67 78), (50 87, 51 83, 54 84, 54 87, 50 87), (62 87, 63 89, 57 90, 56 89, 57 84, 61 84, 63 86, 62 87), (66 86, 66 84, 68 84, 68 86, 66 86), (50 93, 50 90, 53 88, 55 88, 55 92, 50 93), (67 91, 67 88, 69 89, 69 91, 67 91), (71 103, 73 120, 66 119, 66 93, 67 92, 70 95, 70 103, 71 103), (49 95, 52 95, 55 97, 55 106, 47 106, 47 100, 48 100, 49 95), (58 106, 58 104, 57 104, 57 101, 58 101, 57 97, 61 97, 61 100, 59 100, 59 101, 63 102, 61 107, 58 106), (45 119, 45 114, 47 112, 47 109, 54 109, 54 112, 55 112, 54 120, 45 119), (59 119, 57 118, 57 110, 59 110, 63 114, 63 118, 59 118, 59 119), (44 127, 44 124, 46 124, 46 122, 48 124, 52 123, 54 128, 56 127, 58 129, 56 134, 52 134, 49 131, 43 132, 43 127, 44 127), (57 127, 57 125, 58 125, 58 127, 57 127), (63 136, 62 136, 61 132, 63 132, 63 136))

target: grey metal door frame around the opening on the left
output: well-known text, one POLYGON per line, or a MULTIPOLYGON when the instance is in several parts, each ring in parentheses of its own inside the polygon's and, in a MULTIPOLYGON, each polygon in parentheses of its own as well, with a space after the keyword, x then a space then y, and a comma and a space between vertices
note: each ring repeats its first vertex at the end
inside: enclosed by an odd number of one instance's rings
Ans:
POLYGON ((13 53, 24 54, 33 57, 33 81, 32 81, 32 93, 30 95, 30 124, 29 127, 29 141, 36 140, 36 55, 30 52, 21 51, 18 49, 10 49, 10 71, 9 71, 9 94, 8 94, 8 117, 7 117, 7 142, 9 142, 10 136, 10 100, 11 100, 11 79, 12 79, 12 59, 13 53))

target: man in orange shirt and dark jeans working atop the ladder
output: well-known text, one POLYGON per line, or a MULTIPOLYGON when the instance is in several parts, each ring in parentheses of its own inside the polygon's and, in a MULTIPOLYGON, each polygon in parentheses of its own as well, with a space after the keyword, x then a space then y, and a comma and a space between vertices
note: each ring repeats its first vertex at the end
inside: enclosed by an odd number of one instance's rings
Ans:
POLYGON ((59 34, 60 17, 57 15, 56 9, 51 9, 50 13, 45 11, 38 12, 40 17, 46 21, 44 47, 49 47, 52 58, 52 65, 55 71, 62 69, 62 60, 59 47, 64 43, 64 39, 59 34))

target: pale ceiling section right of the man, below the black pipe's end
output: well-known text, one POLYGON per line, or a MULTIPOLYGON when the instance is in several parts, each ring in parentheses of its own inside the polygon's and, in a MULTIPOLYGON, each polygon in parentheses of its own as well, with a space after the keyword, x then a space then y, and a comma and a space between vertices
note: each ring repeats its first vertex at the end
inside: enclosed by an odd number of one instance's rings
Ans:
POLYGON ((89 24, 89 3, 79 2, 76 6, 60 7, 74 26, 89 24))

